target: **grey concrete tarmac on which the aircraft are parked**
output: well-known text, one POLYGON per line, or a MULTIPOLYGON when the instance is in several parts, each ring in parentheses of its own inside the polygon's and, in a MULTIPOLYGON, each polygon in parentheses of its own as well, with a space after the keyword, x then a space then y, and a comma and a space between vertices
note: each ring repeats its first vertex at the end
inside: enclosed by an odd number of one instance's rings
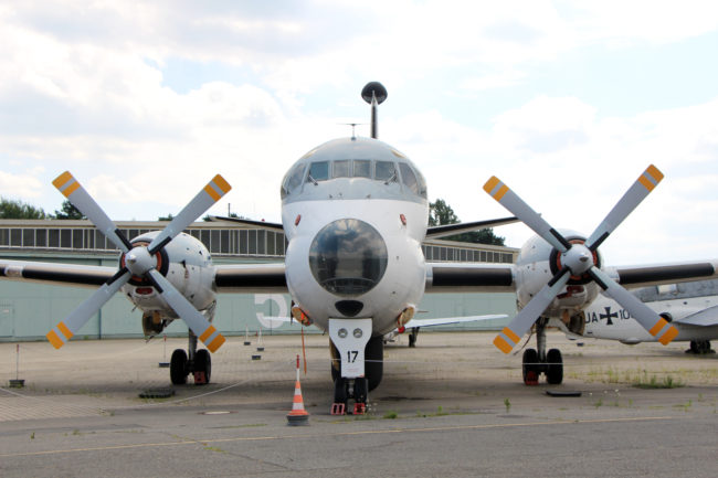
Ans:
POLYGON ((0 344, 2 477, 405 477, 718 475, 718 359, 686 343, 587 340, 549 333, 562 385, 526 386, 520 352, 494 333, 422 333, 386 349, 382 384, 363 416, 329 414, 328 338, 230 338, 212 383, 169 386, 186 340, 0 344), (252 360, 252 355, 261 360, 252 360), (287 426, 295 358, 309 425, 287 426), (662 389, 662 385, 678 385, 662 389), (638 387, 635 385, 644 385, 638 387), (580 391, 580 397, 551 397, 580 391))

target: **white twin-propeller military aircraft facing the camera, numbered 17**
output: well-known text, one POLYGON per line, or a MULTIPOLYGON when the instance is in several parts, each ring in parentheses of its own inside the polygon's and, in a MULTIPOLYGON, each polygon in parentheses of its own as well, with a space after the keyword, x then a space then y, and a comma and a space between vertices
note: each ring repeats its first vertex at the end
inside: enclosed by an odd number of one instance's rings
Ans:
POLYGON ((282 181, 281 224, 233 219, 284 231, 288 245, 283 264, 212 265, 204 246, 181 233, 229 190, 219 176, 163 231, 129 243, 66 173, 55 185, 119 247, 119 269, 0 261, 0 276, 101 286, 49 333, 55 347, 118 290, 144 310, 146 331, 157 333, 182 318, 190 329, 189 357, 183 350, 172 353, 173 383, 183 383, 190 372, 209 380, 210 355, 197 350, 197 338, 210 351, 224 340, 210 323, 214 294, 288 290, 293 318, 329 333, 334 414, 346 413, 350 399, 355 413, 363 413, 368 392, 382 379, 384 334, 411 327, 424 293, 516 291, 520 311, 494 343, 508 353, 536 322, 537 357, 528 361, 552 364, 562 360, 558 349, 546 352, 545 320, 555 318, 569 326, 583 320, 581 312, 599 289, 629 310, 651 336, 668 343, 678 330, 624 286, 716 276, 716 261, 627 268, 602 264, 599 245, 655 188, 662 178, 655 167, 638 178, 588 240, 552 229, 492 178, 485 190, 538 234, 521 248, 517 263, 426 262, 421 249, 425 237, 493 227, 516 217, 427 227, 424 177, 404 153, 378 139, 377 108, 387 98, 386 88, 371 82, 361 96, 371 105, 371 137, 330 140, 299 158, 282 181))

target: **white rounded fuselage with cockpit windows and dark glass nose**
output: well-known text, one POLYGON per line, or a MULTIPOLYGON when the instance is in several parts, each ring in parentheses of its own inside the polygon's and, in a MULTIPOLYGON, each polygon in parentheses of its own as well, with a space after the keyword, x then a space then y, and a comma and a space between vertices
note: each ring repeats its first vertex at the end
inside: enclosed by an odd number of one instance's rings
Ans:
POLYGON ((317 327, 371 318, 372 334, 383 334, 418 306, 425 194, 409 159, 376 139, 329 141, 292 167, 282 206, 287 287, 317 327))

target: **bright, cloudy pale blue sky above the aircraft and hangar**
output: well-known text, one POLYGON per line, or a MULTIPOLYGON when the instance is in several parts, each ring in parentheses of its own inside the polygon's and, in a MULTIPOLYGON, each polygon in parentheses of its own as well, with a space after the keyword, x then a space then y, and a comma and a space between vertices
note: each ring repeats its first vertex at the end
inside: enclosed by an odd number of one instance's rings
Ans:
MULTIPOLYGON (((379 138, 462 221, 507 212, 497 176, 590 234, 653 163, 663 182, 602 246, 608 265, 718 257, 718 3, 711 1, 0 0, 0 195, 53 213, 70 170, 116 220, 281 220, 305 152, 379 138)), ((495 230, 520 247, 522 224, 495 230)))

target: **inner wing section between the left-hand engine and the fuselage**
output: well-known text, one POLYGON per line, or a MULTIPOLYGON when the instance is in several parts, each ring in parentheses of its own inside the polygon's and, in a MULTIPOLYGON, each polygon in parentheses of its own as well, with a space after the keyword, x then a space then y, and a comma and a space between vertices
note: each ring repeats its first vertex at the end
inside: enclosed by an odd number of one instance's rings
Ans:
POLYGON ((284 294, 288 291, 284 263, 221 264, 215 266, 214 286, 218 293, 284 294))

